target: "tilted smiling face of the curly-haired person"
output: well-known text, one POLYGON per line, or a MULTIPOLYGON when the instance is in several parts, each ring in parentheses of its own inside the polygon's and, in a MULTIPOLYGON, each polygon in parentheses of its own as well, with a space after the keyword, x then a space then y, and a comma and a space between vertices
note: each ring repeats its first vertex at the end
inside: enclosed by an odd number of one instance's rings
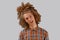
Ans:
POLYGON ((32 15, 31 12, 26 12, 24 15, 23 15, 25 21, 29 24, 29 25, 32 25, 34 22, 35 22, 35 18, 34 16, 32 15))

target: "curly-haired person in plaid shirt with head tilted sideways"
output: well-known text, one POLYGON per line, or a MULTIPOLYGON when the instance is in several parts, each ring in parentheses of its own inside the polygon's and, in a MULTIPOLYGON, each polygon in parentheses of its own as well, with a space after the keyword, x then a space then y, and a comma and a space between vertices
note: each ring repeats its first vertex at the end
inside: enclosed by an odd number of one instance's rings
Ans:
POLYGON ((24 28, 20 32, 19 40, 49 40, 48 32, 39 27, 41 15, 30 3, 22 3, 17 7, 19 24, 24 28))

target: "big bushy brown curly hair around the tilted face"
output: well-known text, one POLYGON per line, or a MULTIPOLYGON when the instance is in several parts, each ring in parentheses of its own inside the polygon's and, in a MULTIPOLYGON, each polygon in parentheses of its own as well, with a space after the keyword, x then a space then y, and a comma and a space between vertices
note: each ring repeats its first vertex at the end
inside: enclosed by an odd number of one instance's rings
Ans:
POLYGON ((31 5, 29 2, 26 4, 22 2, 22 5, 17 7, 18 12, 17 15, 19 19, 19 25, 21 25, 23 28, 29 28, 28 23, 23 18, 23 14, 25 14, 24 12, 28 11, 30 11, 33 14, 37 24, 41 22, 41 15, 37 12, 37 10, 33 7, 33 5, 31 5))

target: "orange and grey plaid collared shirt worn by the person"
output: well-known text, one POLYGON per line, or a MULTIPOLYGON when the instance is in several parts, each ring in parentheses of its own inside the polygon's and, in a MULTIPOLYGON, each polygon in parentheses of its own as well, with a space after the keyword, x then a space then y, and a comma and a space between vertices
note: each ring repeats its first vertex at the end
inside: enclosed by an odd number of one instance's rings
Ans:
POLYGON ((40 27, 20 32, 19 40, 49 40, 48 32, 40 27))

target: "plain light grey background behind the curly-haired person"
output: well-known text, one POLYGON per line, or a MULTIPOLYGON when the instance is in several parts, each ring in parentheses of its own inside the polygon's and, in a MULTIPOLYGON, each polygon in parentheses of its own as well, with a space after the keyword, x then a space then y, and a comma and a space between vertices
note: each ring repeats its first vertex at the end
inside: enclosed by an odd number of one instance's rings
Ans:
POLYGON ((18 24, 16 8, 30 2, 42 15, 40 27, 46 29, 50 40, 60 40, 59 0, 0 0, 0 40, 18 40, 23 30, 18 24))

